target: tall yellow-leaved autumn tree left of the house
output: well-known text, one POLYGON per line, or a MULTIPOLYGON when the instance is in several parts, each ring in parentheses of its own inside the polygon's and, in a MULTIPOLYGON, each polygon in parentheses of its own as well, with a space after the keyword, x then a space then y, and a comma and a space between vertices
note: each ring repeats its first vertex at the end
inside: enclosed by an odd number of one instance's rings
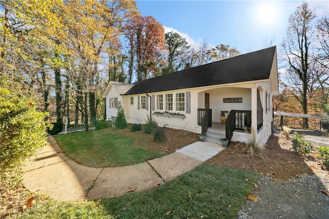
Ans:
POLYGON ((123 23, 136 10, 136 4, 124 0, 72 0, 66 2, 64 10, 66 13, 58 16, 68 33, 68 37, 62 39, 69 51, 65 74, 73 88, 76 111, 82 114, 88 131, 89 116, 92 123, 96 121, 98 96, 102 92, 99 86, 100 66, 105 61, 102 55, 107 53, 111 54, 110 59, 115 57, 114 50, 120 47, 116 45, 119 43, 117 35, 122 33, 123 23))

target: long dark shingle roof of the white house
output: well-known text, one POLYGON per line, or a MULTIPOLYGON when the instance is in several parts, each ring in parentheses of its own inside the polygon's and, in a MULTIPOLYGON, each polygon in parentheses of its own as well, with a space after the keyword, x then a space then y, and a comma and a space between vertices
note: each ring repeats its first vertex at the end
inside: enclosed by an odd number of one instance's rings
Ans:
POLYGON ((268 79, 276 46, 137 82, 126 95, 268 79))

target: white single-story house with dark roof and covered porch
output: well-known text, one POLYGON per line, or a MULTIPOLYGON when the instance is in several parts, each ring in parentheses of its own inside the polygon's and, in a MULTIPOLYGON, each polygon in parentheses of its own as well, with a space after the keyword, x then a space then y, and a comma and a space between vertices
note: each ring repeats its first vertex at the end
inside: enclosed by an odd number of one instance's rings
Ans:
POLYGON ((247 141, 253 132, 265 143, 278 92, 274 46, 136 84, 110 81, 103 98, 108 120, 115 119, 121 101, 128 123, 144 123, 152 114, 161 126, 206 132, 208 141, 247 141))

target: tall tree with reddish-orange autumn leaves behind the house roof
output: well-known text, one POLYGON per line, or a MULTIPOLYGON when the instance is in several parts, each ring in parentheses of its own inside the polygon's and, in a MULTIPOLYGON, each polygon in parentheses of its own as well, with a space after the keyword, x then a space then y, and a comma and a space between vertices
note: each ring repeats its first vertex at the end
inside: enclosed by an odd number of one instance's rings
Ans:
POLYGON ((134 70, 137 81, 157 76, 165 48, 162 25, 152 16, 137 14, 127 22, 125 36, 129 44, 129 81, 134 70))

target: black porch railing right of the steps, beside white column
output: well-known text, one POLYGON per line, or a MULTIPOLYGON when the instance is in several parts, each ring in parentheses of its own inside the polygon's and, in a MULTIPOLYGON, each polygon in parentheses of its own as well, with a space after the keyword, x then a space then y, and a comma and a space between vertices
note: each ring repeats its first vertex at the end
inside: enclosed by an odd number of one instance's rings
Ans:
POLYGON ((250 132, 251 129, 251 111, 231 110, 225 122, 226 138, 232 138, 234 130, 250 132))

